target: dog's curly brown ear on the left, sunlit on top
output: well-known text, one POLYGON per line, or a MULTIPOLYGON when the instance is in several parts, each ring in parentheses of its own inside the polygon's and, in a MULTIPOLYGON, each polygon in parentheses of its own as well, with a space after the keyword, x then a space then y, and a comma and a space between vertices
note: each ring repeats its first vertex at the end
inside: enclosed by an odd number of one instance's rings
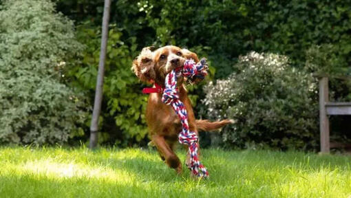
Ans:
POLYGON ((142 81, 151 82, 155 79, 155 61, 153 61, 153 52, 151 47, 144 47, 139 56, 133 61, 131 70, 142 81))

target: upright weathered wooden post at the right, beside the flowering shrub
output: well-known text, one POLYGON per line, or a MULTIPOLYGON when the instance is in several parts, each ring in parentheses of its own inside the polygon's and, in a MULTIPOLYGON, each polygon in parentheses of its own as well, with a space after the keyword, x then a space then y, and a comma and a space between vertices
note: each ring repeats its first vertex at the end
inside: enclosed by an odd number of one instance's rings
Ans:
POLYGON ((330 129, 326 102, 329 102, 328 77, 321 77, 319 79, 319 130, 321 131, 321 153, 330 152, 330 129))

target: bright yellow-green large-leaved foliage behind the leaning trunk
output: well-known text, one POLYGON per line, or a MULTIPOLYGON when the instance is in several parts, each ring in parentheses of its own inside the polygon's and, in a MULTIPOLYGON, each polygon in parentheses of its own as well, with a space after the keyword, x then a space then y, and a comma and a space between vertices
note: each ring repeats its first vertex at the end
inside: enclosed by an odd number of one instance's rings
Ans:
MULTIPOLYGON (((131 72, 131 61, 137 56, 136 38, 122 41, 121 36, 123 33, 116 25, 110 25, 100 122, 103 135, 100 142, 125 146, 140 142, 147 134, 143 118, 147 95, 141 93, 142 85, 131 72)), ((78 26, 78 41, 86 46, 83 59, 80 64, 71 67, 67 75, 72 78, 76 87, 88 90, 90 98, 94 98, 100 54, 100 28, 94 28, 90 23, 78 26)))

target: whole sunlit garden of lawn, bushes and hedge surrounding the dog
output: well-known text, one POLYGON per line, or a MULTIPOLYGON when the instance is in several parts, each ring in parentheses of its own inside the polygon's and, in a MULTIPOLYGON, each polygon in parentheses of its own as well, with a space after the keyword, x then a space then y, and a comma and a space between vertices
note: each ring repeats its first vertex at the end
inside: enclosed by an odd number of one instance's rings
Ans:
POLYGON ((97 146, 89 149, 104 1, 0 1, 0 197, 348 197, 350 115, 329 116, 321 151, 319 76, 351 102, 349 1, 125 1, 109 5, 97 146), (167 167, 150 142, 144 47, 206 57, 186 85, 208 179, 167 167), (343 147, 335 145, 345 145, 343 147))

